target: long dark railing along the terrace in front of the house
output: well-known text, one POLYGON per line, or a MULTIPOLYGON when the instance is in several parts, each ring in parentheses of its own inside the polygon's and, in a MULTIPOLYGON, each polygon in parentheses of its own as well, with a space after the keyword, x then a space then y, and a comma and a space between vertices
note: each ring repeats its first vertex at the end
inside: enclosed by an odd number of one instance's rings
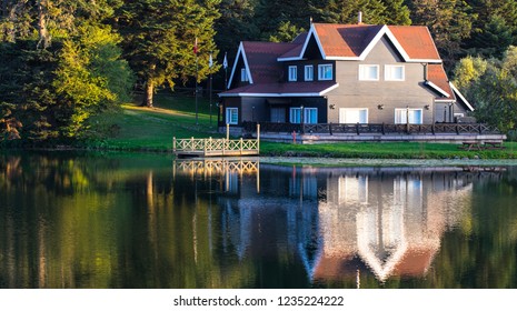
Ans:
MULTIPOLYGON (((253 132, 256 122, 242 122, 246 132, 253 132)), ((349 134, 499 134, 500 132, 487 124, 481 123, 435 123, 435 124, 342 124, 342 123, 318 123, 318 124, 292 124, 261 122, 261 132, 276 133, 349 133, 349 134)))

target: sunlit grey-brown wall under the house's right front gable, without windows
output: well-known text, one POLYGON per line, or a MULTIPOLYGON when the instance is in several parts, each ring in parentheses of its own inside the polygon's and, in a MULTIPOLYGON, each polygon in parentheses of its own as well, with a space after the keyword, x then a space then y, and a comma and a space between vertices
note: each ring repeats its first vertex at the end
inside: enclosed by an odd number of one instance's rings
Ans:
POLYGON ((420 63, 401 62, 391 43, 381 39, 365 61, 337 61, 336 80, 339 88, 329 92, 328 103, 336 104, 328 111, 329 122, 339 122, 339 108, 367 108, 369 123, 392 123, 395 109, 422 109, 424 123, 433 123, 434 99, 424 82, 424 67, 420 63), (359 64, 378 64, 378 81, 359 81, 359 64), (385 64, 402 64, 405 81, 385 81, 385 64), (377 107, 384 104, 384 109, 377 107), (429 106, 429 110, 425 107, 429 106))

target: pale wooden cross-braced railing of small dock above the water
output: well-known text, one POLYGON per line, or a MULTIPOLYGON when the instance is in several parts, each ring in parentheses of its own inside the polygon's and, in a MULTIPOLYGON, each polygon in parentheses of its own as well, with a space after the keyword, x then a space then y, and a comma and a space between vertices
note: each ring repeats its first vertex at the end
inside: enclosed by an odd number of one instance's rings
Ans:
POLYGON ((172 151, 179 157, 235 157, 257 156, 260 143, 258 139, 176 139, 172 140, 172 151))

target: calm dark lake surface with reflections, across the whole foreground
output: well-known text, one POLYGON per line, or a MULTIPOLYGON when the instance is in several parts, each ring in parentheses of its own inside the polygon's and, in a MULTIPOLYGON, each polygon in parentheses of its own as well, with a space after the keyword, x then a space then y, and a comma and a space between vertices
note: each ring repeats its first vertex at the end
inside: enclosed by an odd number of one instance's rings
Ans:
POLYGON ((0 154, 0 288, 517 288, 517 167, 0 154))

